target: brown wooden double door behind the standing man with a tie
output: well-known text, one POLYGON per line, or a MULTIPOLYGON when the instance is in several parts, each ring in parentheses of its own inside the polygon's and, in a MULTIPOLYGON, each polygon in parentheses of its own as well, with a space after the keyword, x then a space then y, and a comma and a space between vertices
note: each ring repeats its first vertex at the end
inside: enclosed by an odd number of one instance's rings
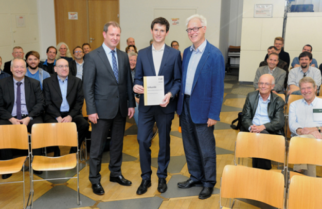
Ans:
POLYGON ((65 42, 71 54, 84 43, 89 43, 92 50, 98 48, 103 43, 104 24, 119 23, 119 0, 55 0, 54 3, 56 41, 65 42), (68 12, 77 12, 77 19, 69 19, 68 12))

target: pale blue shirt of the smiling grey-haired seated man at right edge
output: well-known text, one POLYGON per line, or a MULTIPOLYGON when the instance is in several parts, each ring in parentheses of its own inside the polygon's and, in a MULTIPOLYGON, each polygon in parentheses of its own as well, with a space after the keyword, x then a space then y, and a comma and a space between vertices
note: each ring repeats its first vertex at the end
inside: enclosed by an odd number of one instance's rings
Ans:
POLYGON ((308 105, 305 99, 293 101, 289 110, 289 126, 292 132, 291 136, 298 135, 298 128, 313 128, 322 126, 322 99, 315 97, 308 105), (313 113, 313 110, 318 113, 313 113), (318 110, 321 110, 319 112, 318 110))

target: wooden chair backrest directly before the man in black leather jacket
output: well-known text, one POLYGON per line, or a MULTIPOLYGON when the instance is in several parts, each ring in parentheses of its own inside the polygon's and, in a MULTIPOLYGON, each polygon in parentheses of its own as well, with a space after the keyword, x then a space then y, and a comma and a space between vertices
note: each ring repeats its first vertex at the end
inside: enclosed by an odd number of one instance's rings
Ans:
POLYGON ((285 161, 285 138, 281 135, 239 132, 235 147, 236 158, 256 157, 285 161))

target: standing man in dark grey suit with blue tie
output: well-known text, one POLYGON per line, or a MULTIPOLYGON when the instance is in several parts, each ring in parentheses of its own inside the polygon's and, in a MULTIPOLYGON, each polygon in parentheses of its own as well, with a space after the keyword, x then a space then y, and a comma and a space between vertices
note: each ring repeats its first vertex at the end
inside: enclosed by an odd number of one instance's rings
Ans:
POLYGON ((126 117, 134 114, 128 54, 116 49, 121 28, 116 22, 104 25, 104 43, 88 53, 84 61, 83 89, 88 119, 92 122, 90 181, 93 193, 103 195, 100 183, 103 144, 112 129, 110 145, 110 181, 129 186, 131 181, 121 173, 123 135, 126 117))

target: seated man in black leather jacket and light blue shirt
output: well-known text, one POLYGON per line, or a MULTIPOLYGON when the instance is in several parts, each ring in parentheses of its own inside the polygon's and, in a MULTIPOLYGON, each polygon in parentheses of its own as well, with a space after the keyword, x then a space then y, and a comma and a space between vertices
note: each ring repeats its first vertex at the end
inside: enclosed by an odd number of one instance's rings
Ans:
MULTIPOLYGON (((240 131, 284 135, 284 100, 273 94, 274 77, 260 76, 258 90, 248 93, 242 112, 240 131)), ((271 160, 253 158, 253 168, 270 170, 271 160)))

